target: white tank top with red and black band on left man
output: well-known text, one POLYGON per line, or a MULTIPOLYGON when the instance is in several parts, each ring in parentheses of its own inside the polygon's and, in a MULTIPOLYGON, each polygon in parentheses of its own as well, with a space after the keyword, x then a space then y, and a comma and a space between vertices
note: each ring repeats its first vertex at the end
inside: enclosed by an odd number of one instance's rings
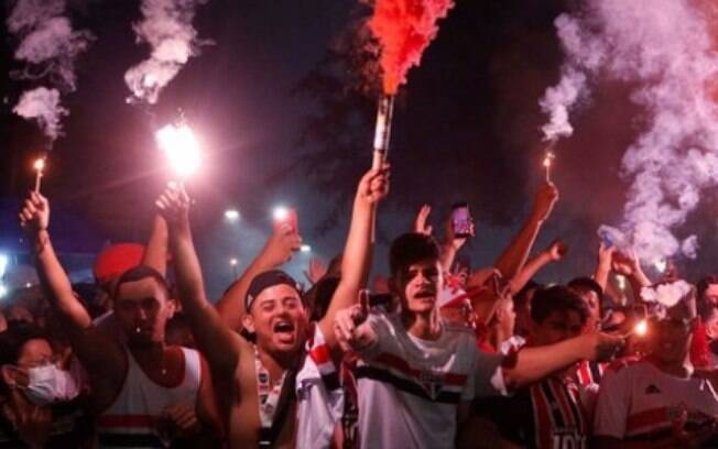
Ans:
MULTIPOLYGON (((199 353, 181 348, 185 360, 184 379, 168 388, 153 382, 132 354, 124 349, 128 371, 117 398, 96 420, 97 447, 162 448, 161 423, 157 418, 168 405, 197 403, 202 381, 199 353)), ((165 441, 166 443, 166 441, 165 441)))

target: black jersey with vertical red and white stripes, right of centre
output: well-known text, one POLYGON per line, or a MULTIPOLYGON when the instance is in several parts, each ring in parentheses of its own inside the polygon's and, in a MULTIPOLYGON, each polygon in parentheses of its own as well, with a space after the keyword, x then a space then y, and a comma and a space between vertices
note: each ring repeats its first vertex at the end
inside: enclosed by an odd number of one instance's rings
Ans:
POLYGON ((510 397, 477 399, 474 412, 496 424, 501 437, 536 449, 585 449, 590 418, 586 392, 557 376, 515 391, 510 397))

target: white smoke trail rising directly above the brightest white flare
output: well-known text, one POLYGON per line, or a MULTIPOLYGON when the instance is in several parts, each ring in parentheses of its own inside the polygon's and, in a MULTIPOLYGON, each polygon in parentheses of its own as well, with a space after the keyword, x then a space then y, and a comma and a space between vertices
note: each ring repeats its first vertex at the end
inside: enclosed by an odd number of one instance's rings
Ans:
POLYGON ((142 21, 132 28, 138 42, 152 47, 150 58, 124 74, 132 96, 128 102, 157 102, 160 92, 180 73, 191 56, 199 54, 199 41, 192 26, 195 10, 208 0, 142 0, 142 21))

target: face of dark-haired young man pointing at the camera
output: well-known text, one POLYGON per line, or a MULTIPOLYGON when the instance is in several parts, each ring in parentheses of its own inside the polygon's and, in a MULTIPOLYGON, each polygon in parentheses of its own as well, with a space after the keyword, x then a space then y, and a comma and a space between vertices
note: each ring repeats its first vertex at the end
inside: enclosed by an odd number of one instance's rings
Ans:
POLYGON ((427 314, 436 308, 436 299, 443 283, 438 260, 427 259, 409 265, 398 280, 398 289, 404 311, 427 314))

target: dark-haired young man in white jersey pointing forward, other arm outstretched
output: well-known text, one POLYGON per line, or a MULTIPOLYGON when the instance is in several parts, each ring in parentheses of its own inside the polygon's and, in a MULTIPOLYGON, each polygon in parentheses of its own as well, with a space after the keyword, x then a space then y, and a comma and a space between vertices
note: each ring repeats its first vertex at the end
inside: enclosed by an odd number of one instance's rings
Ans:
POLYGON ((622 344, 620 338, 594 332, 507 357, 481 353, 474 332, 439 319, 443 274, 434 239, 403 234, 393 241, 389 259, 401 311, 352 306, 337 314, 335 325, 341 347, 360 357, 361 448, 453 448, 475 396, 535 382, 579 360, 612 354, 622 344))

